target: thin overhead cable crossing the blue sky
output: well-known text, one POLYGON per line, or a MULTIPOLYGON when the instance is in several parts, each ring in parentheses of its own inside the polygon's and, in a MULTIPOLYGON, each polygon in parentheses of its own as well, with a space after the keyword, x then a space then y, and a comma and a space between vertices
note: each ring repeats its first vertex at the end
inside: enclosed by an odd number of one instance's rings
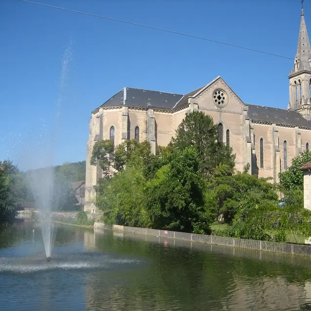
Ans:
POLYGON ((59 9, 59 10, 63 10, 63 11, 68 11, 68 12, 73 12, 73 13, 78 13, 78 14, 83 14, 83 15, 88 15, 88 16, 93 16, 93 17, 98 17, 98 18, 101 18, 101 19, 109 20, 109 21, 123 22, 123 23, 125 23, 125 24, 130 24, 130 25, 145 27, 145 28, 149 28, 149 29, 164 31, 164 32, 168 32, 168 33, 175 34, 175 35, 190 37, 190 38, 194 38, 194 39, 199 39, 199 40, 204 40, 204 41, 209 41, 209 42, 224 44, 224 45, 228 45, 228 46, 232 46, 232 47, 237 47, 237 48, 244 49, 244 50, 248 50, 248 51, 252 51, 252 52, 262 53, 262 54, 271 55, 271 56, 275 56, 275 57, 281 57, 281 58, 284 58, 284 59, 287 59, 287 60, 291 60, 291 61, 294 60, 294 59, 291 58, 291 57, 286 57, 286 56, 283 56, 283 55, 277 55, 277 54, 274 54, 274 53, 269 53, 269 52, 265 52, 265 51, 260 51, 260 50, 252 49, 252 48, 245 47, 245 46, 240 46, 240 45, 231 44, 231 43, 222 42, 222 41, 216 41, 216 40, 207 39, 207 38, 204 38, 204 37, 199 37, 199 36, 194 36, 194 35, 190 35, 190 34, 185 34, 185 33, 178 32, 178 31, 173 31, 173 30, 163 29, 163 28, 159 28, 159 27, 153 27, 153 26, 149 26, 149 25, 144 25, 144 24, 140 24, 140 23, 136 23, 136 22, 132 22, 132 21, 118 20, 118 19, 114 19, 114 18, 111 18, 111 17, 106 17, 106 16, 102 16, 102 15, 97 15, 97 14, 91 14, 91 13, 82 12, 82 11, 76 11, 76 10, 66 9, 66 8, 59 7, 59 6, 54 6, 54 5, 49 5, 49 4, 43 4, 43 3, 34 2, 34 1, 29 1, 29 0, 19 0, 19 1, 27 2, 27 3, 32 3, 32 4, 37 4, 37 5, 41 5, 41 6, 46 6, 46 7, 50 7, 50 8, 54 8, 54 9, 59 9))

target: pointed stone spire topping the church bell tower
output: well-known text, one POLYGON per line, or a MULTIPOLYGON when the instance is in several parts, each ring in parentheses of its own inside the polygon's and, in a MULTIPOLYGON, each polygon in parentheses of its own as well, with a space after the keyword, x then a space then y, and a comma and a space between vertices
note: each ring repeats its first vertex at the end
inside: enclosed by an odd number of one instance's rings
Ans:
POLYGON ((311 48, 305 22, 304 9, 301 9, 297 54, 295 56, 294 66, 290 72, 289 77, 302 71, 311 72, 311 48))

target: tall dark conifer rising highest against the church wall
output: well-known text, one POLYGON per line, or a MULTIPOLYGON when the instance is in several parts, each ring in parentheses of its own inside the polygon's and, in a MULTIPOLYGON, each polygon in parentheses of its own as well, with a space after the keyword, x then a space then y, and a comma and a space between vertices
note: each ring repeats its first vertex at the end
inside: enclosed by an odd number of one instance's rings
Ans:
POLYGON ((219 142, 217 125, 204 112, 188 113, 176 131, 176 138, 172 138, 170 144, 180 150, 188 146, 195 147, 205 174, 213 174, 221 164, 227 166, 227 174, 233 173, 235 155, 232 148, 219 142))

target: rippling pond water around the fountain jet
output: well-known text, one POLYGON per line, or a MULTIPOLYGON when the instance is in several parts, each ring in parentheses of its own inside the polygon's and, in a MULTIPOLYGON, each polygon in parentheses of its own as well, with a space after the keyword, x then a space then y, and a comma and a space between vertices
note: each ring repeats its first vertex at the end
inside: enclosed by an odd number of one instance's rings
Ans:
POLYGON ((0 310, 311 310, 311 259, 61 225, 46 262, 20 221, 0 227, 0 310))

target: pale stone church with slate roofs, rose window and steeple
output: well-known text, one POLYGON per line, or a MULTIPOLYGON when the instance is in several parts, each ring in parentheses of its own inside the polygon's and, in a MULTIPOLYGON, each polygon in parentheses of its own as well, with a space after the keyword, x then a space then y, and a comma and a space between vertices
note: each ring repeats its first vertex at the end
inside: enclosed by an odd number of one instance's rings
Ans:
POLYGON ((86 145, 84 211, 96 212, 94 187, 102 177, 100 166, 91 166, 93 145, 110 139, 148 140, 151 151, 166 146, 185 115, 203 111, 218 124, 219 137, 232 146, 236 169, 250 164, 250 174, 272 177, 291 164, 291 159, 311 144, 311 48, 304 10, 297 54, 289 74, 287 109, 246 104, 220 76, 187 94, 124 87, 92 112, 86 145))

